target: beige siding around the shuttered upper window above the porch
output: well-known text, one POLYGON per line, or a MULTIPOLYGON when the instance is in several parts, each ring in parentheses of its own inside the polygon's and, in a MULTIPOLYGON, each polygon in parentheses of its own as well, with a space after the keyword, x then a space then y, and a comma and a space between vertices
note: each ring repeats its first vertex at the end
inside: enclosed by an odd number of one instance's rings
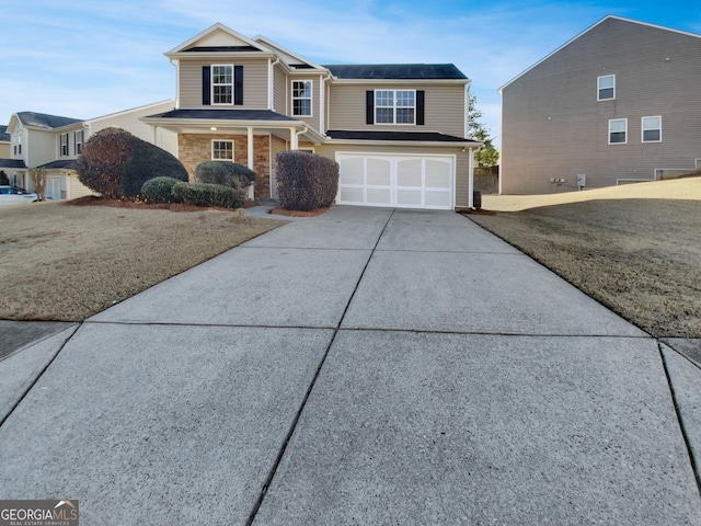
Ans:
POLYGON ((181 108, 267 108, 267 59, 222 58, 214 60, 181 60, 180 64, 180 107, 181 108), (202 104, 202 68, 212 64, 243 66, 243 105, 202 104))

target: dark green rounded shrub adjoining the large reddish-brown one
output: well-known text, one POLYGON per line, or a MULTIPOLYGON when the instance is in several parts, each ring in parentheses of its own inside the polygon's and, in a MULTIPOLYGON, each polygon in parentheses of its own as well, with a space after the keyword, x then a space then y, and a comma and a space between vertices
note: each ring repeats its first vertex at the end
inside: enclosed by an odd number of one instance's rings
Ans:
POLYGON ((154 178, 187 181, 187 170, 168 151, 137 138, 122 167, 119 195, 136 197, 140 194, 143 183, 154 178))

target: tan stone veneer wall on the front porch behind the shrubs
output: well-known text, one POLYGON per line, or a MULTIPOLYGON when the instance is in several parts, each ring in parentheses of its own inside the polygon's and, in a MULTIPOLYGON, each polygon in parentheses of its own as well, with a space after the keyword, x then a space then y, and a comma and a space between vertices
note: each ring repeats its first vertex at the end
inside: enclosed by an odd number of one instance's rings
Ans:
MULTIPOLYGON (((231 134, 180 134, 177 149, 180 161, 187 170, 189 180, 200 162, 211 160, 214 139, 233 140, 233 162, 249 165, 248 136, 231 134)), ((253 136, 253 171, 255 172, 254 196, 256 199, 271 198, 271 137, 253 136)))

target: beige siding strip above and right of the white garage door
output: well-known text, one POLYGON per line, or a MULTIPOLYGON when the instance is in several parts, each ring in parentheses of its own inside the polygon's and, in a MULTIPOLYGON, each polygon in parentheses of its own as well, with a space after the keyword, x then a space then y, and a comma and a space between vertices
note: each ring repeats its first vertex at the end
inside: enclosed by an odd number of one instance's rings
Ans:
POLYGON ((411 153, 426 156, 456 157, 456 207, 468 206, 468 186, 470 176, 470 155, 462 148, 453 147, 422 147, 422 146, 369 146, 369 145, 319 145, 314 153, 336 160, 336 152, 357 153, 411 153))

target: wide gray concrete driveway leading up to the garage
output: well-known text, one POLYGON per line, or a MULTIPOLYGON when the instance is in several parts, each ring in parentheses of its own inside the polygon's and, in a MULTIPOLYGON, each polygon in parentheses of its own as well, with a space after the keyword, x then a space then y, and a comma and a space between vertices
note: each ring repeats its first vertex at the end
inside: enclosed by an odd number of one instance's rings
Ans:
POLYGON ((701 524, 701 370, 458 214, 337 207, 66 331, 0 362, 0 499, 81 524, 701 524))

